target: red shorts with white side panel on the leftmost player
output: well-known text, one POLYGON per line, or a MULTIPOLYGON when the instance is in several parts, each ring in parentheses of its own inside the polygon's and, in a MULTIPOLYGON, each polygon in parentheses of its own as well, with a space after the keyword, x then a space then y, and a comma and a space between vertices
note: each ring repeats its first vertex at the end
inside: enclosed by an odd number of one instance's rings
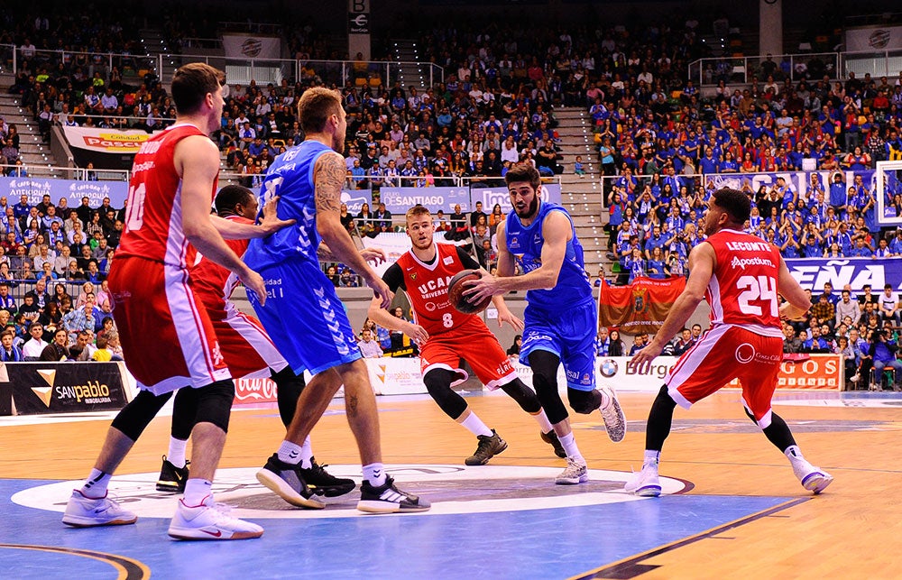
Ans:
POLYGON ((109 286, 125 366, 154 394, 230 378, 213 323, 181 268, 138 257, 115 260, 109 286))

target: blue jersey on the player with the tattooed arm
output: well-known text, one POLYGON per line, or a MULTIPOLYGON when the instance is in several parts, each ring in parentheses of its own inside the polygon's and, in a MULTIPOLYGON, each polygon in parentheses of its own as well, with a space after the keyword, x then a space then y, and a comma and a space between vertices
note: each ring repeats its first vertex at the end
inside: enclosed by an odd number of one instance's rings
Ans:
POLYGON ((296 219, 275 234, 251 240, 244 262, 261 270, 289 259, 318 263, 317 207, 314 196, 313 168, 319 156, 332 149, 316 141, 305 141, 272 161, 260 190, 260 210, 266 201, 279 196, 278 215, 296 219))

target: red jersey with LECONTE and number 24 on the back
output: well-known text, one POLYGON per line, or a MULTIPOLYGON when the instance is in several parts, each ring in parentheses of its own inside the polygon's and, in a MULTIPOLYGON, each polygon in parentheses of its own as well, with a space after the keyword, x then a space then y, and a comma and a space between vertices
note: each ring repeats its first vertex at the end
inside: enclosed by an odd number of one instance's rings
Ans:
POLYGON ((711 323, 743 327, 763 336, 783 336, 780 329, 780 253, 754 235, 721 230, 705 240, 717 265, 705 290, 711 323))

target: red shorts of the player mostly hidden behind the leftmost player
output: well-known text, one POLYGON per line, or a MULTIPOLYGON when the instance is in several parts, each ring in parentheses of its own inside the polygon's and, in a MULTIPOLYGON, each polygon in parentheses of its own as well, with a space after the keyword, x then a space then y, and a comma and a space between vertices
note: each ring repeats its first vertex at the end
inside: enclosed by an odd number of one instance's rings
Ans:
POLYGON ((219 312, 209 314, 219 340, 219 350, 236 379, 269 378, 270 369, 278 373, 288 366, 256 318, 247 316, 231 302, 226 303, 221 315, 219 312))

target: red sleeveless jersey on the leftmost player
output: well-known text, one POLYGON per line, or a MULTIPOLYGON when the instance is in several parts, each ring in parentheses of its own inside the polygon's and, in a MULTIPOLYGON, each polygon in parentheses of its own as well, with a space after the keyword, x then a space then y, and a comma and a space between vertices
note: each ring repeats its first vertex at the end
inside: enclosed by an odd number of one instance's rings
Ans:
MULTIPOLYGON (((134 156, 128 186, 128 211, 116 257, 140 257, 188 269, 194 246, 181 226, 181 178, 175 170, 175 146, 204 133, 193 124, 175 124, 152 136, 134 156)), ((210 201, 216 194, 216 180, 210 201)))

